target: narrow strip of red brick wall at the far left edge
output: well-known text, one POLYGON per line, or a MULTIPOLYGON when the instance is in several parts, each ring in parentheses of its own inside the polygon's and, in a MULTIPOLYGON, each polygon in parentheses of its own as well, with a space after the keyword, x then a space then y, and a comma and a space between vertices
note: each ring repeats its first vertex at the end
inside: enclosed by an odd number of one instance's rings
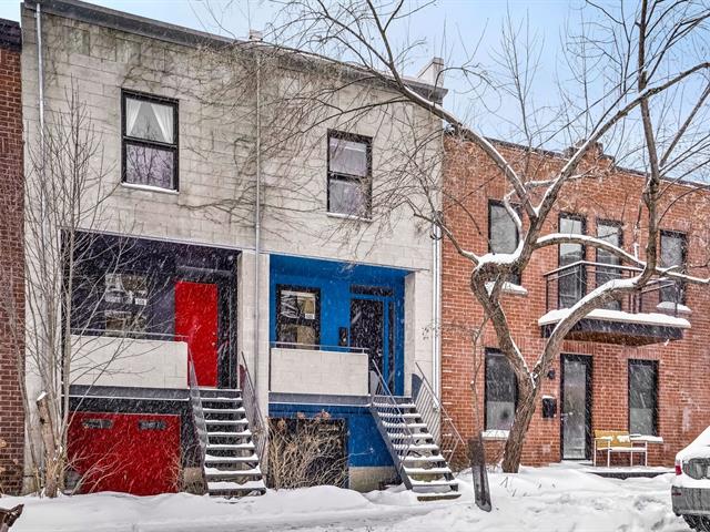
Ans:
POLYGON ((19 25, 0 19, 0 493, 22 488, 23 170, 19 25), (14 316, 13 316, 14 315, 14 316))

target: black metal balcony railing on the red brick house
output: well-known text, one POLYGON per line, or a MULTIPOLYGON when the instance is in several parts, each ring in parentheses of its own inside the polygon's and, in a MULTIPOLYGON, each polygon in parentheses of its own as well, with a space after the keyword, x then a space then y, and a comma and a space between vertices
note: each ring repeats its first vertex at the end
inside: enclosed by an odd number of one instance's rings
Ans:
MULTIPOLYGON (((612 279, 630 278, 642 270, 632 266, 579 260, 544 274, 546 311, 570 308, 591 290, 612 279)), ((671 316, 682 314, 684 286, 666 277, 652 277, 638 291, 623 295, 601 308, 630 314, 662 311, 671 316)))

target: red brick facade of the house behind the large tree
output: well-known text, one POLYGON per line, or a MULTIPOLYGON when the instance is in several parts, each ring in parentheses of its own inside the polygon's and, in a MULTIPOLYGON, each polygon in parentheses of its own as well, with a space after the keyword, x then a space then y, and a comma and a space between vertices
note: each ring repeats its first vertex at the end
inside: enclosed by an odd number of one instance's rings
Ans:
MULTIPOLYGON (((500 149, 510 161, 523 164, 519 150, 508 145, 500 149)), ((596 234, 597 218, 621 221, 627 250, 632 250, 633 224, 638 217, 642 177, 632 172, 617 171, 606 157, 586 161, 587 170, 596 168, 591 177, 569 183, 557 211, 549 217, 546 232, 556 231, 558 212, 575 212, 587 218, 587 234, 596 234)), ((530 161, 528 173, 538 178, 549 176, 551 167, 561 164, 561 157, 538 155, 530 161)), ((446 186, 463 205, 445 205, 449 227, 466 248, 478 254, 488 249, 488 198, 500 200, 507 192, 500 173, 473 145, 449 139, 446 143, 446 186)), ((661 222, 666 229, 688 234, 689 264, 708 263, 708 222, 710 222, 710 193, 684 195, 688 188, 671 186, 665 198, 668 213, 661 222), (673 200, 677 203, 671 205, 673 200)), ((641 218, 642 219, 642 218, 641 218)), ((643 228, 640 234, 643 234, 643 228)), ((641 242, 643 246, 643 242, 641 242)), ((642 247, 641 247, 642 249, 642 247)), ((542 274, 557 267, 557 246, 536 253, 523 274, 527 296, 504 296, 504 309, 511 324, 514 338, 524 352, 528 366, 537 360, 544 339, 537 320, 546 313, 542 274)), ((595 252, 587 248, 587 260, 595 260, 595 252)), ((496 347, 490 326, 485 327, 478 349, 474 352, 471 331, 479 328, 483 311, 470 291, 471 263, 462 258, 450 242, 443 246, 443 330, 442 330, 442 393, 445 407, 452 413, 464 436, 468 437, 483 426, 484 409, 484 349, 496 347), (471 381, 476 383, 471 390, 471 381)), ((708 275, 704 267, 692 273, 708 275)), ((565 341, 562 352, 589 355, 592 358, 592 429, 628 429, 628 360, 652 359, 659 364, 659 436, 662 444, 651 447, 649 462, 671 464, 674 454, 710 424, 710 288, 691 286, 688 306, 692 309, 691 330, 683 339, 645 347, 629 347, 592 341, 565 341)), ((560 360, 555 361, 554 379, 545 378, 542 395, 558 400, 558 415, 542 419, 538 405, 524 449, 524 463, 544 464, 560 460, 560 360)), ((487 446, 498 453, 499 443, 487 446)))

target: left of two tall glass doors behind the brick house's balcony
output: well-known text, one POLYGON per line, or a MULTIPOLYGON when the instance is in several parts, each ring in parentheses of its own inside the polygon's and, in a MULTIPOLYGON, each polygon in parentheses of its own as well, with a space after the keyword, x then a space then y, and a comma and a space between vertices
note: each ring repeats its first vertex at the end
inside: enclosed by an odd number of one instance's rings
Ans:
MULTIPOLYGON (((576 214, 559 215, 559 232, 566 235, 584 235, 586 232, 585 218, 576 214)), ((569 266, 585 259, 585 246, 581 244, 560 244, 559 265, 569 266)), ((558 306, 569 308, 582 298, 587 291, 586 270, 582 264, 571 266, 559 273, 558 277, 558 306)))

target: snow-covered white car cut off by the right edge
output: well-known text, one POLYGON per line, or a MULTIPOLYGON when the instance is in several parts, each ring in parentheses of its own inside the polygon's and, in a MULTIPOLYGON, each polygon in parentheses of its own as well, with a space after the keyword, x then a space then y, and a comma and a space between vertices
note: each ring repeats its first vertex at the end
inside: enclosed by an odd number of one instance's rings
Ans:
POLYGON ((676 515, 692 529, 710 532, 710 427, 676 454, 671 500, 676 515))

